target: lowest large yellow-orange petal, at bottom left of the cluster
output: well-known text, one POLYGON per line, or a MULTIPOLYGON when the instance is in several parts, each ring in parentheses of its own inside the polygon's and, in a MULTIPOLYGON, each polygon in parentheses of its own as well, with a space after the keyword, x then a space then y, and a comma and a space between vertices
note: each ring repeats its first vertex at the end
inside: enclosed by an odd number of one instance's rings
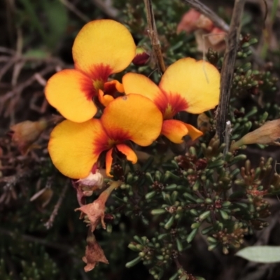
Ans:
POLYGON ((64 120, 50 134, 48 151, 53 164, 67 177, 85 178, 108 146, 108 136, 100 120, 85 123, 64 120))

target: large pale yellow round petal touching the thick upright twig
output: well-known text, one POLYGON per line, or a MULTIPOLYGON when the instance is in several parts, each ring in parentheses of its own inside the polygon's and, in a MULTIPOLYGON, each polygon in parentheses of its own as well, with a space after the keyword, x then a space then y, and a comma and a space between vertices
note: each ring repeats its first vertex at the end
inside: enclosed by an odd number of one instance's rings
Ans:
POLYGON ((184 111, 202 113, 218 105, 220 73, 204 60, 182 58, 167 68, 159 86, 167 96, 179 94, 187 104, 184 111))

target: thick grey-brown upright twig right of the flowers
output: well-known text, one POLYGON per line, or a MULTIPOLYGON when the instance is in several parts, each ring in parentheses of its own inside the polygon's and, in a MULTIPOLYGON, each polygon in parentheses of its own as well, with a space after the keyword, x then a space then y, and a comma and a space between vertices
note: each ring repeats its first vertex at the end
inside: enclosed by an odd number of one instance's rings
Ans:
POLYGON ((228 118, 230 90, 232 88, 235 59, 239 45, 240 24, 243 8, 244 0, 235 0, 235 7, 233 8, 232 20, 230 22, 230 30, 228 32, 228 38, 226 38, 225 56, 221 71, 220 100, 216 115, 217 133, 221 144, 223 144, 225 139, 225 123, 228 118))

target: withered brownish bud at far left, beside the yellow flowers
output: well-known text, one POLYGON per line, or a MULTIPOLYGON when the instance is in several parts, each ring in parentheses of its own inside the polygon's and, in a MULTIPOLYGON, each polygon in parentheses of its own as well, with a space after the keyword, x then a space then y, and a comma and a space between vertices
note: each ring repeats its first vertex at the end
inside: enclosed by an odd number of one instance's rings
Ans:
POLYGON ((13 143, 18 146, 20 153, 26 155, 32 146, 34 147, 33 143, 47 127, 48 122, 45 119, 36 122, 25 120, 10 127, 8 134, 12 137, 13 143))

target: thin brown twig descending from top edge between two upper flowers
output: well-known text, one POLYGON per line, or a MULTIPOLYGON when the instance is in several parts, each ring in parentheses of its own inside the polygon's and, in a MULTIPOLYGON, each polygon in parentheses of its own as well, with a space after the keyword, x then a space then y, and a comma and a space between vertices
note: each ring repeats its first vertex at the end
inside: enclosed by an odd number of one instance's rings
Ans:
POLYGON ((162 57, 160 40, 158 38, 158 31, 157 31, 157 27, 155 26, 155 16, 153 15, 152 2, 151 0, 144 0, 144 3, 145 3, 146 13, 147 13, 148 34, 151 39, 155 62, 157 63, 160 72, 165 73, 165 61, 163 60, 162 57))

